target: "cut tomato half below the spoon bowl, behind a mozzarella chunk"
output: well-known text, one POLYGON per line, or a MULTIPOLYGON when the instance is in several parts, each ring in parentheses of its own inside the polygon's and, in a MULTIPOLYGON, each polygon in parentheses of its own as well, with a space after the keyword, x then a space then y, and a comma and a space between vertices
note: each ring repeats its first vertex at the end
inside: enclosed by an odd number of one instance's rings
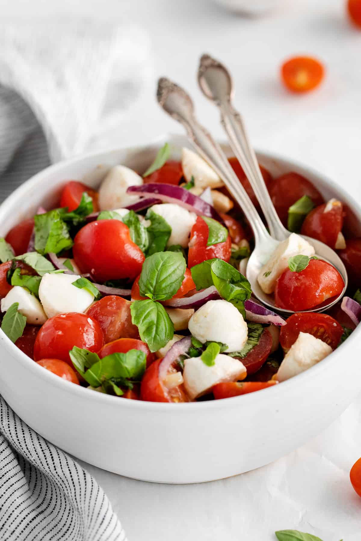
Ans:
POLYGON ((281 327, 279 335, 280 344, 285 353, 296 342, 299 333, 312 334, 326 342, 332 349, 336 349, 342 337, 343 328, 327 314, 317 314, 315 312, 303 312, 292 314, 287 319, 286 325, 281 327))

